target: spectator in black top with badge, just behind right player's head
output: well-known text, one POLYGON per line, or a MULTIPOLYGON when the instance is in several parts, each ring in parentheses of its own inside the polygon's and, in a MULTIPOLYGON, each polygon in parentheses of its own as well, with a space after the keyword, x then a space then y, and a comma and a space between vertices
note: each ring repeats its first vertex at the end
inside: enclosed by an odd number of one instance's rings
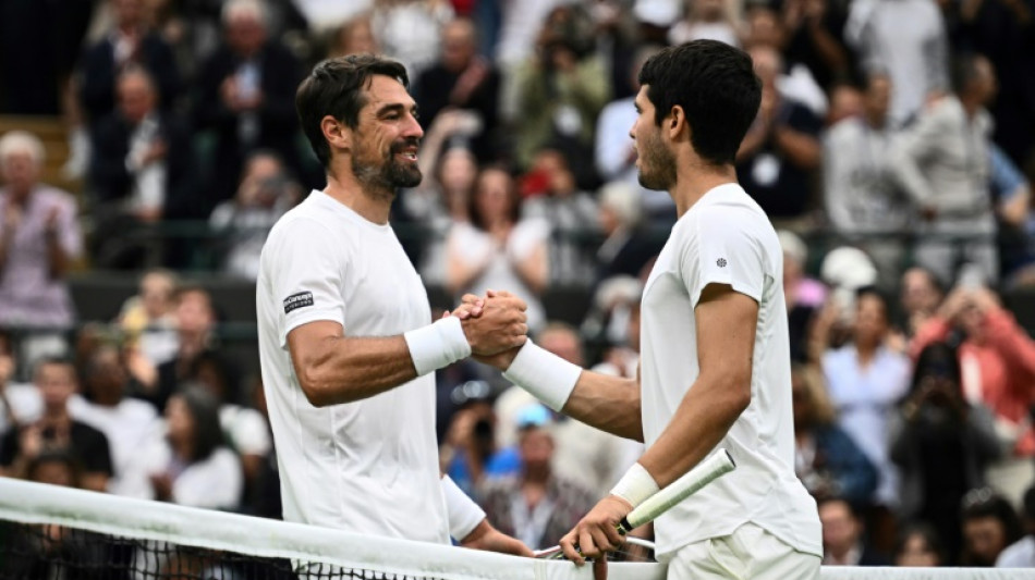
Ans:
POLYGON ((750 53, 762 79, 762 104, 736 153, 736 174, 770 219, 801 219, 813 207, 809 181, 821 160, 823 122, 780 95, 779 52, 759 46, 750 53))

